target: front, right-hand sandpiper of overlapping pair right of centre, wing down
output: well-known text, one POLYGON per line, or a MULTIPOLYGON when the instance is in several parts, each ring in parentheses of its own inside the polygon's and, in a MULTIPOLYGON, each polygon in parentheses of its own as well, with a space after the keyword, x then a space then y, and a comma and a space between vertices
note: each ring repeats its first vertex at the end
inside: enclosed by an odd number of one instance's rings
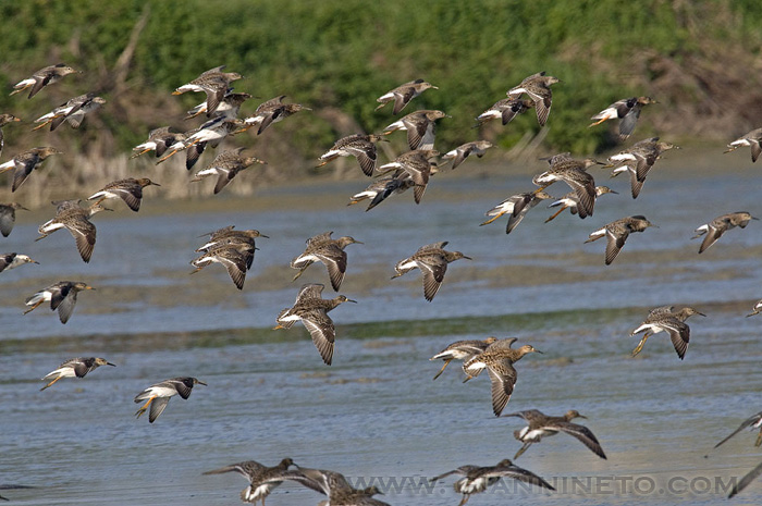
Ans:
POLYGON ((517 373, 513 365, 527 354, 542 353, 528 344, 514 349, 511 346, 516 341, 516 337, 495 341, 483 353, 463 363, 463 370, 467 374, 464 383, 478 377, 484 369, 490 373, 492 411, 495 417, 500 417, 500 414, 503 412, 514 392, 517 373))

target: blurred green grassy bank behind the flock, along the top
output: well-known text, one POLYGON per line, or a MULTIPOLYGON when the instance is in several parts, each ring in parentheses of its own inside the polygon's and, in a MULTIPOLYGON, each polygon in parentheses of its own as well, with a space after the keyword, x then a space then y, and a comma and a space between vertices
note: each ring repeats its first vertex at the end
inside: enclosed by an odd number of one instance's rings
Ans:
MULTIPOLYGON (((71 96, 99 90, 109 103, 98 119, 86 120, 89 131, 58 135, 95 145, 89 151, 107 157, 128 152, 151 127, 189 128, 182 112, 201 97, 169 94, 220 64, 246 77, 234 83, 237 91, 261 100, 287 95, 315 110, 279 124, 268 146, 257 148, 276 157, 291 152, 299 169, 353 133, 342 131, 337 118, 367 132, 391 123, 390 107, 373 110, 376 98, 418 77, 440 89, 404 112, 441 109, 453 116, 440 122, 440 149, 477 136, 511 148, 539 131, 533 112, 505 127, 472 128, 477 114, 538 71, 562 79, 554 86, 546 151, 611 147, 611 127, 588 128, 588 119, 627 96, 661 102, 643 113, 641 138, 727 138, 759 126, 762 113, 760 76, 749 72, 762 47, 759 1, 27 0, 2 2, 0 18, 7 90, 59 61, 85 72, 33 100, 2 92, 0 110, 34 119, 71 96), (147 23, 120 81, 115 62, 143 15, 147 23), (335 113, 321 112, 329 108, 335 113), (103 139, 107 133, 113 138, 103 139), (287 149, 272 146, 280 141, 287 149)), ((244 113, 261 100, 246 103, 244 113)), ((7 137, 10 145, 42 143, 12 127, 7 137)), ((391 137, 402 148, 402 134, 391 137)))

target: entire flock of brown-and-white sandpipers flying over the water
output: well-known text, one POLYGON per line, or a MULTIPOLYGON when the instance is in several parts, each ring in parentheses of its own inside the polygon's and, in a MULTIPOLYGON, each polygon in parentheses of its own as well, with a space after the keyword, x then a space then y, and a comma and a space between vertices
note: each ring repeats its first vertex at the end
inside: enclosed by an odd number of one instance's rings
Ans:
MULTIPOLYGON (((46 86, 74 73, 77 73, 77 71, 64 64, 41 69, 33 74, 32 77, 16 84, 11 95, 29 89, 28 98, 33 98, 46 86)), ((176 88, 174 95, 188 91, 206 94, 206 100, 188 111, 187 119, 205 114, 207 121, 199 127, 185 133, 172 132, 168 126, 156 128, 149 133, 145 143, 134 148, 133 158, 153 151, 158 158, 158 163, 162 163, 174 155, 185 151, 185 166, 190 171, 207 147, 217 148, 226 137, 246 132, 253 127, 256 128, 257 135, 259 135, 270 125, 285 118, 303 110, 309 110, 309 108, 302 104, 285 103, 283 101, 285 96, 280 96, 261 103, 253 115, 239 119, 238 114, 242 104, 251 98, 248 94, 233 91, 231 83, 241 77, 239 74, 224 72, 224 66, 219 66, 176 88)), ((482 125, 492 120, 501 120, 502 124, 505 125, 516 115, 532 108, 537 112, 539 124, 544 125, 552 107, 551 86, 555 83, 558 83, 558 79, 545 75, 544 72, 528 76, 507 91, 507 98, 499 100, 491 108, 479 114, 477 116, 477 125, 482 125)), ((438 88, 422 79, 405 83, 379 97, 378 102, 380 102, 380 106, 377 109, 382 109, 386 103, 393 103, 392 113, 398 114, 415 97, 428 89, 438 88)), ((37 123, 35 129, 50 125, 50 129, 53 131, 64 122, 76 128, 88 113, 96 111, 103 103, 105 100, 94 94, 75 97, 35 120, 35 123, 37 123)), ((650 97, 632 97, 616 101, 593 115, 592 120, 595 122, 590 126, 599 125, 609 120, 618 120, 619 139, 624 141, 635 131, 642 108, 651 103, 655 103, 655 100, 650 97)), ((364 200, 370 200, 367 211, 373 209, 390 196, 402 194, 409 188, 413 188, 415 202, 419 203, 430 177, 441 166, 451 163, 452 169, 455 169, 471 155, 482 157, 488 149, 493 147, 487 140, 466 143, 447 151, 438 161, 440 152, 433 148, 434 125, 438 120, 448 116, 442 111, 419 110, 394 121, 381 134, 356 134, 341 138, 320 157, 318 166, 322 166, 339 157, 355 157, 360 170, 367 176, 379 174, 379 177, 373 183, 365 190, 352 196, 349 201, 349 205, 354 205, 364 200), (377 144, 384 140, 386 135, 397 131, 407 133, 409 151, 400 155, 386 164, 379 165, 377 144)), ((12 114, 0 115, 0 153, 2 149, 2 126, 20 120, 12 114)), ((762 151, 761 141, 762 128, 758 128, 730 143, 726 152, 741 146, 750 146, 752 162, 754 162, 762 151)), ((560 207, 561 209, 546 221, 553 220, 565 209, 569 209, 573 214, 579 215, 580 219, 591 217, 599 197, 605 194, 616 194, 609 187, 595 186, 593 176, 588 173, 588 169, 598 164, 613 168, 612 175, 628 173, 631 196, 637 198, 642 190, 649 171, 661 156, 669 149, 677 149, 677 146, 660 141, 659 137, 652 137, 623 149, 620 152, 610 157, 606 163, 592 158, 578 160, 573 158, 570 153, 560 153, 544 159, 549 164, 548 170, 532 178, 532 183, 537 188, 511 196, 487 211, 486 214, 490 219, 483 222, 482 225, 492 223, 502 215, 507 214, 506 233, 511 233, 529 210, 543 200, 553 199, 545 193, 545 188, 555 182, 564 182, 572 192, 551 203, 551 207, 560 207)), ((196 172, 192 181, 197 182, 207 177, 217 177, 213 192, 218 194, 241 171, 255 163, 266 163, 256 157, 244 155, 243 151, 243 148, 236 148, 220 152, 208 166, 196 172)), ((60 151, 54 147, 32 148, 0 164, 0 172, 13 171, 11 192, 15 193, 35 169, 39 168, 48 157, 58 153, 60 151)), ((57 230, 66 229, 74 237, 82 259, 88 262, 96 243, 96 227, 90 222, 90 219, 100 211, 110 210, 103 207, 102 202, 106 200, 123 200, 132 211, 137 212, 140 208, 144 188, 151 185, 158 186, 157 183, 145 177, 114 181, 89 196, 87 200, 93 202, 85 208, 82 207, 81 199, 56 201, 53 202, 57 207, 56 217, 39 226, 40 236, 37 240, 47 237, 57 230)), ((2 232, 3 236, 8 236, 11 233, 15 220, 15 211, 20 209, 25 208, 16 202, 0 206, 0 232, 2 232)), ((757 218, 748 212, 733 212, 723 214, 701 225, 696 231, 697 237, 704 236, 699 252, 706 250, 726 231, 736 226, 743 229, 751 220, 757 220, 757 218)), ((643 232, 651 226, 655 225, 642 215, 625 217, 592 232, 588 242, 605 237, 605 263, 611 264, 619 255, 630 233, 643 232)), ((194 272, 198 272, 211 263, 220 263, 225 267, 235 286, 238 289, 243 289, 246 272, 251 268, 257 249, 255 239, 267 236, 256 230, 238 231, 235 230, 234 225, 210 232, 201 237, 207 235, 209 238, 196 250, 200 256, 192 262, 196 268, 194 272)), ((294 280, 298 279, 312 263, 321 262, 328 270, 331 287, 339 292, 347 268, 345 248, 351 244, 362 243, 349 236, 334 239, 332 238, 332 232, 321 233, 309 238, 305 251, 291 262, 291 267, 298 270, 294 280)), ((410 257, 396 263, 394 267, 396 273, 393 277, 404 275, 410 270, 419 269, 423 280, 423 297, 428 301, 433 300, 444 280, 447 266, 458 259, 470 259, 460 251, 445 250, 446 245, 447 242, 440 242, 421 246, 410 257)), ((25 263, 36 262, 26 255, 15 252, 0 256, 0 272, 25 263)), ((26 300, 26 306, 29 308, 25 313, 36 309, 44 303, 50 303, 51 310, 57 310, 61 322, 66 323, 73 313, 77 294, 89 289, 95 288, 85 282, 60 281, 53 283, 26 300)), ((354 303, 354 300, 348 299, 344 295, 324 299, 322 298, 323 289, 324 286, 322 284, 304 285, 299 289, 293 307, 283 309, 278 316, 278 326, 275 329, 290 329, 295 322, 300 321, 309 331, 322 360, 330 366, 333 359, 335 328, 328 312, 343 303, 354 303)), ((757 314, 760 311, 762 311, 762 300, 755 305, 753 312, 749 316, 757 314)), ((637 355, 642 349, 649 336, 665 332, 669 335, 678 357, 683 359, 690 340, 690 329, 686 320, 693 314, 702 313, 690 307, 680 310, 675 310, 672 306, 653 309, 643 323, 631 333, 631 335, 636 335, 644 332, 642 341, 632 351, 632 355, 637 355)), ((502 414, 516 384, 517 371, 514 365, 525 355, 541 353, 531 345, 513 348, 512 346, 516 341, 515 337, 502 340, 488 337, 482 341, 459 341, 453 343, 431 358, 431 360, 444 361, 434 380, 453 360, 463 361, 463 371, 466 374, 464 382, 478 377, 483 370, 488 371, 494 415, 497 417, 518 417, 527 423, 527 427, 514 433, 515 439, 523 443, 521 448, 514 456, 514 460, 526 452, 531 444, 558 432, 576 437, 598 457, 605 459, 606 455, 593 433, 588 428, 572 421, 576 418, 585 418, 575 410, 570 410, 563 416, 548 416, 536 409, 507 415, 502 414)), ((81 357, 66 360, 58 369, 42 378, 46 381, 46 385, 41 390, 52 386, 64 378, 84 378, 101 366, 114 366, 114 363, 100 357, 81 357)), ((149 422, 155 422, 167 408, 171 397, 180 395, 182 398, 187 399, 197 384, 206 385, 205 382, 192 377, 173 378, 152 384, 135 397, 135 403, 145 402, 137 410, 136 416, 139 418, 148 411, 149 422)), ((762 412, 746 420, 727 439, 746 428, 760 429, 760 435, 755 443, 757 446, 760 446, 762 444, 762 412)), ((717 446, 727 441, 727 439, 718 443, 717 446)), ((249 460, 208 471, 206 474, 231 471, 239 472, 249 481, 249 485, 241 494, 242 501, 248 503, 261 501, 263 505, 265 498, 274 488, 284 481, 295 481, 328 496, 325 504, 329 505, 385 505, 385 503, 372 498, 373 495, 380 493, 377 488, 354 489, 345 477, 337 472, 299 467, 290 458, 283 459, 273 467, 267 467, 249 460)), ((730 496, 740 492, 760 473, 762 473, 762 464, 737 483, 730 496)), ((462 466, 455 470, 439 474, 432 478, 431 481, 435 482, 451 474, 462 477, 454 484, 455 491, 463 494, 460 506, 468 501, 470 494, 484 491, 489 485, 503 477, 530 483, 540 489, 554 490, 548 481, 529 470, 516 466, 509 459, 501 460, 495 466, 462 466)))

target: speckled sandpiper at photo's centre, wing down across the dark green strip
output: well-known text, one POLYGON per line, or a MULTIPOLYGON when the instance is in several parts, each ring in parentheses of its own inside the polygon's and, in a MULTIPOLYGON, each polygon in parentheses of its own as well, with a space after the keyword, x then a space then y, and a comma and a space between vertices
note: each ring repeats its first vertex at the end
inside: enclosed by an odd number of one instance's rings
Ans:
POLYGON ((336 329, 328 312, 336 308, 342 303, 356 303, 340 295, 332 299, 323 299, 324 286, 321 284, 307 284, 299 289, 296 301, 291 308, 283 309, 278 314, 278 325, 274 329, 291 329, 300 321, 309 331, 315 347, 328 366, 333 360, 333 343, 336 340, 336 329))

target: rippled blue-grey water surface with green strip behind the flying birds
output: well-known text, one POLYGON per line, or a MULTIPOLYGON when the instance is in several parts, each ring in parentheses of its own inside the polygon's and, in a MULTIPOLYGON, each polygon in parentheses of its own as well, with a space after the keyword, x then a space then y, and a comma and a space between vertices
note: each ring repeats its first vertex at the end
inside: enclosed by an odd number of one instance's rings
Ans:
MULTIPOLYGON (((509 236, 504 222, 477 225, 491 206, 528 189, 526 177, 438 176, 420 206, 403 195, 369 213, 344 207, 365 182, 342 184, 328 197, 294 190, 280 209, 236 200, 224 212, 150 215, 146 202, 138 215, 95 219, 99 235, 90 264, 78 260, 67 234, 33 243, 37 224, 22 222, 3 239, 4 249, 28 254, 40 266, 0 274, 0 485, 37 489, 3 495, 21 505, 232 505, 245 481, 202 471, 290 456, 367 484, 374 479, 391 504, 456 504, 452 480, 427 488, 421 479, 513 456, 520 443, 512 434, 521 425, 491 416, 486 375, 462 384, 452 365, 433 382, 441 363, 428 358, 453 341, 494 334, 545 351, 516 366, 519 379, 506 412, 577 409, 609 459, 557 435, 532 445, 517 464, 558 493, 506 482, 471 503, 518 496, 529 505, 724 504, 727 480, 762 459, 753 433, 712 449, 760 410, 762 317, 743 316, 762 297, 762 233, 752 222, 700 257, 688 238, 725 212, 762 214, 754 195, 735 194, 732 208, 721 197, 749 177, 656 172, 638 200, 627 197, 628 182, 614 181, 624 195, 601 200, 593 218, 563 215, 543 224, 546 213, 538 207, 509 236), (312 198, 322 203, 306 212, 312 198), (604 268, 603 245, 583 245, 587 235, 638 213, 660 229, 630 237, 604 268), (218 266, 187 275, 197 236, 232 223, 271 237, 258 239, 242 293, 218 266), (302 282, 328 283, 320 264, 297 283, 287 267, 307 237, 328 230, 365 243, 347 251, 341 293, 359 304, 331 313, 337 338, 330 368, 302 326, 270 330, 302 282), (438 240, 475 260, 451 266, 429 304, 417 272, 390 277, 397 260, 438 240), (82 279, 98 289, 81 294, 65 326, 42 307, 21 316, 24 297, 61 279, 82 279), (630 358, 638 337, 629 332, 664 304, 692 305, 708 314, 689 321, 686 360, 677 359, 663 334, 630 358), (103 356, 118 367, 38 392, 39 378, 82 355, 103 356), (135 420, 133 397, 176 375, 209 386, 194 388, 187 400, 174 397, 153 424, 135 420)), ((760 499, 762 483, 754 483, 734 501, 760 499)), ((286 484, 268 504, 318 501, 315 492, 286 484)))

